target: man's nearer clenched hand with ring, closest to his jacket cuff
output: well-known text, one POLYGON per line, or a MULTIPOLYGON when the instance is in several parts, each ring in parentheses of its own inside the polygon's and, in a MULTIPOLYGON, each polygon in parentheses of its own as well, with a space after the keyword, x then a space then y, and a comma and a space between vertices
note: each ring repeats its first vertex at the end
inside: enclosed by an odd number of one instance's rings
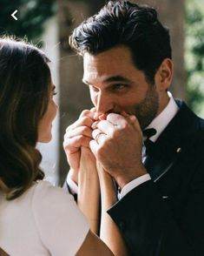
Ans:
POLYGON ((142 132, 135 116, 110 113, 96 127, 91 151, 121 188, 147 173, 141 159, 142 132))

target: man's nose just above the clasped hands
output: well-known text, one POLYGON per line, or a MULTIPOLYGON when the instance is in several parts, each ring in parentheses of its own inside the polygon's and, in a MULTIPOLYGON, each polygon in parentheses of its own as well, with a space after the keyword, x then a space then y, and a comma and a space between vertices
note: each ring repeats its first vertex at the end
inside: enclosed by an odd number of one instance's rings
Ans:
POLYGON ((108 113, 114 110, 114 103, 113 100, 104 94, 98 95, 97 103, 96 103, 96 111, 98 113, 108 113))

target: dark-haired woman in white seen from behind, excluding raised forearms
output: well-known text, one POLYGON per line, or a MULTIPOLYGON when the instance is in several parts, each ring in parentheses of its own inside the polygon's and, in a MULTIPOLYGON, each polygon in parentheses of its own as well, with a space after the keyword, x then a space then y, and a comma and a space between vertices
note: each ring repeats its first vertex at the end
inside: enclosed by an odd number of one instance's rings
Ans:
POLYGON ((0 38, 0 247, 12 256, 113 255, 89 229, 72 196, 43 181, 36 142, 56 117, 49 59, 0 38))

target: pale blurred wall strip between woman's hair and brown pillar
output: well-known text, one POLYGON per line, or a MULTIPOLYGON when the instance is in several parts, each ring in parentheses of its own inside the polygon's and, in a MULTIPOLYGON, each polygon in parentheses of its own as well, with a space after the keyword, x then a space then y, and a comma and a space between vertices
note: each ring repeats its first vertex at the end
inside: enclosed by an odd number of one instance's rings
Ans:
MULTIPOLYGON (((58 44, 58 21, 56 16, 51 17, 44 23, 44 32, 42 35, 43 51, 50 59, 49 68, 52 74, 53 84, 56 85, 56 91, 60 91, 59 63, 60 63, 60 47, 58 44)), ((60 103, 59 93, 55 96, 56 103, 60 103)), ((46 179, 51 183, 59 184, 59 112, 53 123, 53 138, 49 144, 38 143, 37 148, 43 154, 42 168, 46 172, 46 179)))

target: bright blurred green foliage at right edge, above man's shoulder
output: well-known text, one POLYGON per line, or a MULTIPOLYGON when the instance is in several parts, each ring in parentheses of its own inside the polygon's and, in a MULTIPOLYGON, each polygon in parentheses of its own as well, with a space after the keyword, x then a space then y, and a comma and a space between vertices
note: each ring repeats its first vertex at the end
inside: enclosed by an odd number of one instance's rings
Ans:
POLYGON ((204 2, 186 0, 185 65, 188 104, 204 117, 204 2))

